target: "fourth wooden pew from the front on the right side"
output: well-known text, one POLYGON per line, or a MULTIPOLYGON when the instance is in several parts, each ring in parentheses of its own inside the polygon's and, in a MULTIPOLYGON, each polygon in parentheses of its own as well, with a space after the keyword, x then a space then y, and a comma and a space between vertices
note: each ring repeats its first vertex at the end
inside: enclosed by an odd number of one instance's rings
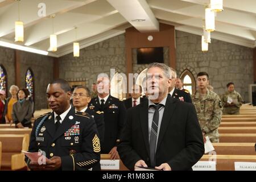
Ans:
MULTIPOLYGON (((221 126, 218 127, 218 133, 255 133, 255 126, 221 126)), ((256 140, 255 140, 256 142, 256 140)))

